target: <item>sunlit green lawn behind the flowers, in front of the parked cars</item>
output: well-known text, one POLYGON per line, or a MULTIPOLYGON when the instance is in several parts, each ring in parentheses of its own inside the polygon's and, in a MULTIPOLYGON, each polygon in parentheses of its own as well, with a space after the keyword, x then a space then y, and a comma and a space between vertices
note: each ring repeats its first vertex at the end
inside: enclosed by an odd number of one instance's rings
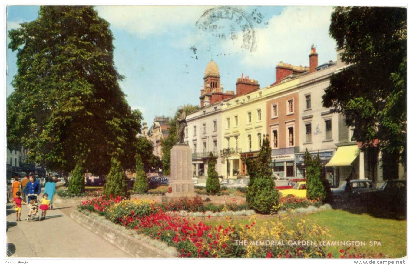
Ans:
MULTIPOLYGON (((240 224, 249 224, 249 217, 233 217, 240 224)), ((257 225, 267 221, 277 220, 277 215, 258 215, 257 225)), ((387 258, 401 258, 406 256, 407 249, 407 220, 383 219, 372 217, 369 214, 355 214, 345 210, 326 210, 305 215, 289 215, 289 219, 311 220, 317 225, 329 229, 330 241, 364 241, 363 251, 383 253, 387 258), (370 246, 370 242, 380 241, 381 246, 370 246)), ((225 224, 222 218, 205 218, 206 223, 212 225, 225 224)), ((286 220, 285 220, 286 222, 286 220)), ((343 247, 328 247, 328 251, 335 257, 340 256, 339 249, 343 247)), ((360 249, 360 247, 359 247, 360 249)))

